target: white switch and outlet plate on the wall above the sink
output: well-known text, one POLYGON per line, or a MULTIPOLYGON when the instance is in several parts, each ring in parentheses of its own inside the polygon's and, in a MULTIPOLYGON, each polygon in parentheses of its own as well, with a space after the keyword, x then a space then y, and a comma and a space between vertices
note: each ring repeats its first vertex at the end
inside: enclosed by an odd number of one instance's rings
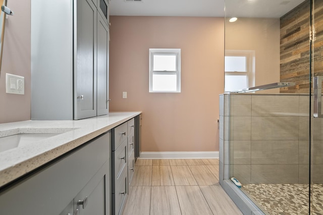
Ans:
POLYGON ((6 73, 6 93, 25 95, 25 78, 6 73))

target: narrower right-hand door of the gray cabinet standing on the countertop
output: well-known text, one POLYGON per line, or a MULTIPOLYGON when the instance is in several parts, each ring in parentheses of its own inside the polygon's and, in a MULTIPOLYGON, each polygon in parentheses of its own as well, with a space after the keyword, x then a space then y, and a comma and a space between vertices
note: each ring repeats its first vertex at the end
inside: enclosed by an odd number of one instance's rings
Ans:
POLYGON ((109 113, 109 28, 97 14, 97 115, 109 113))

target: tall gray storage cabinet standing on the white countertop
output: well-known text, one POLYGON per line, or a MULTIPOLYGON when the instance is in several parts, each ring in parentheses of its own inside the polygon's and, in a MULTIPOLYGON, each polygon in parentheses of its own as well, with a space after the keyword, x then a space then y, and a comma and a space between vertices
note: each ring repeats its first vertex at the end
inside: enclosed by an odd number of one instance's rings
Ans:
POLYGON ((109 113, 107 0, 31 0, 31 119, 109 113))

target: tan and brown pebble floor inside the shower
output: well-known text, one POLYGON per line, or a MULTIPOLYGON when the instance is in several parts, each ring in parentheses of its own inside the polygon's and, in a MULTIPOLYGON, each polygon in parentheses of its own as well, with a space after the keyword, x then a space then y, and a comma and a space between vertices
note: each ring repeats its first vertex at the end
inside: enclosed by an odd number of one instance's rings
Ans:
MULTIPOLYGON (((242 186, 270 214, 308 214, 308 184, 246 184, 242 186)), ((313 184, 312 214, 323 214, 323 184, 313 184)))

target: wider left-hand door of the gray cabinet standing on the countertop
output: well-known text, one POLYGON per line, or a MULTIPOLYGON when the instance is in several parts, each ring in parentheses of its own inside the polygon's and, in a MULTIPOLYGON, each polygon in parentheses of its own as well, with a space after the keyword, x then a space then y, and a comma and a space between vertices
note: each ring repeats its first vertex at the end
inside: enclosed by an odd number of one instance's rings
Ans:
POLYGON ((81 119, 96 116, 97 10, 91 0, 74 3, 74 119, 81 119))

